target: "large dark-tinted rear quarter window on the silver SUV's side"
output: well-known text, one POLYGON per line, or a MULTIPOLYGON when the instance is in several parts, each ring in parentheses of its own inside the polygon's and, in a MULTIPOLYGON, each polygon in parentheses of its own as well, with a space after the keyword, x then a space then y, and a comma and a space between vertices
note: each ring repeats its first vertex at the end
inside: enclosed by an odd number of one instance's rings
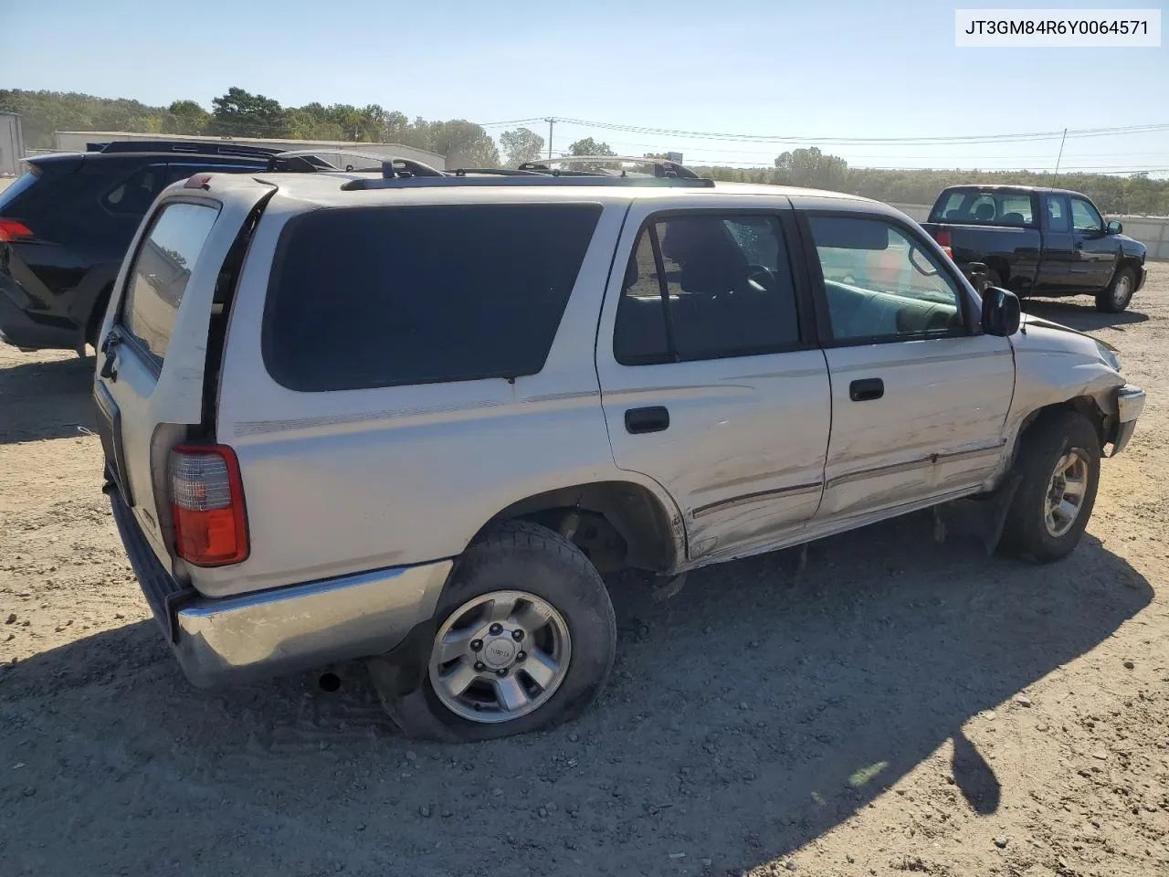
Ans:
POLYGON ((281 235, 264 313, 290 389, 535 374, 599 205, 320 209, 281 235))

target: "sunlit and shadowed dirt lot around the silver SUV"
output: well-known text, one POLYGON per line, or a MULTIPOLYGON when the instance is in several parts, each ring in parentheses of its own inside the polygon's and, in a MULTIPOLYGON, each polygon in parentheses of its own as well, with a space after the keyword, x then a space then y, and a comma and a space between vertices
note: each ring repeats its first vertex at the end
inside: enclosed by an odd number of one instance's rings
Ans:
POLYGON ((614 582, 570 726, 409 743, 364 670, 202 692, 99 492, 89 368, 0 346, 5 875, 1169 873, 1169 265, 1098 331, 1150 399, 1088 537, 1036 568, 915 516, 614 582))

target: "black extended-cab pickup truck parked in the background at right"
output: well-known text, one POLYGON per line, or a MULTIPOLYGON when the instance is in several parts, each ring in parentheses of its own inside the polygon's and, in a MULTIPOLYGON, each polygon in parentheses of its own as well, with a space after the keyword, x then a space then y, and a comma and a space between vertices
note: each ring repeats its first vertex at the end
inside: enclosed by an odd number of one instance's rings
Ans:
MULTIPOLYGON (((922 223, 976 286, 1025 296, 1095 296, 1119 313, 1144 284, 1144 244, 1079 192, 952 186, 922 223)), ((980 292, 982 289, 980 289, 980 292)))

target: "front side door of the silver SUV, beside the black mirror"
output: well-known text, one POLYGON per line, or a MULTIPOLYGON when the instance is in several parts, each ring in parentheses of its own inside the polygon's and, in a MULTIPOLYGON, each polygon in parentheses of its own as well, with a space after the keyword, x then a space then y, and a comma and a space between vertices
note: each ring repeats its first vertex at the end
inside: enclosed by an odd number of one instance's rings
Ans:
POLYGON ((818 518, 969 491, 997 467, 1015 361, 975 329, 973 296, 908 225, 807 214, 821 277, 832 435, 818 518))

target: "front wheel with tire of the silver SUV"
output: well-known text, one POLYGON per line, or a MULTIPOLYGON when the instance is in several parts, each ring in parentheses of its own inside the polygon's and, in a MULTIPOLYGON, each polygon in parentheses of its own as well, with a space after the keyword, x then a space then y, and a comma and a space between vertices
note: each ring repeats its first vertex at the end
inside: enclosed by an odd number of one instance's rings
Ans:
POLYGON ((1056 410, 1044 414, 1023 434, 1016 468, 1022 476, 1003 530, 1003 544, 1009 551, 1037 564, 1050 564, 1067 557, 1084 536, 1100 484, 1100 436, 1082 414, 1056 410), (1066 484, 1059 486, 1057 468, 1064 469, 1066 484), (1074 504, 1074 485, 1070 472, 1081 467, 1079 505, 1070 523, 1063 502, 1074 504), (1059 491, 1059 492, 1053 492, 1059 491), (1052 499, 1049 506, 1049 499, 1052 499), (1051 509, 1051 513, 1049 512, 1051 509), (1054 526, 1052 526, 1052 524, 1054 526))

